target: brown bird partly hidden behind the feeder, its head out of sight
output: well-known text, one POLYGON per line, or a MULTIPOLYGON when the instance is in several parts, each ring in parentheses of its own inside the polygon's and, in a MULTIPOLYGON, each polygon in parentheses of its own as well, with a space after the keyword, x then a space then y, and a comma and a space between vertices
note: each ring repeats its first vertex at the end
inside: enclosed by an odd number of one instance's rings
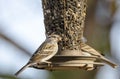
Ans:
POLYGON ((98 57, 98 59, 109 64, 113 68, 117 67, 116 64, 114 64, 113 62, 111 62, 110 60, 108 60, 107 58, 102 56, 98 51, 96 51, 94 48, 90 47, 89 45, 87 45, 85 43, 81 43, 81 50, 82 50, 83 54, 86 56, 96 56, 96 57, 98 57))

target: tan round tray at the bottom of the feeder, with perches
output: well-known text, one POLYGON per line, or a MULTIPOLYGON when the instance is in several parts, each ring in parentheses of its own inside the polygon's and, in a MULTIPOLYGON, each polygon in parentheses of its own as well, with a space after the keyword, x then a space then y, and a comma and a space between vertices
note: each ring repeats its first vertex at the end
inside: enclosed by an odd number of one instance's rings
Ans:
MULTIPOLYGON (((71 51, 73 52, 73 51, 71 51)), ((64 53, 65 54, 65 53, 64 53)), ((55 55, 49 60, 50 64, 43 63, 35 65, 34 68, 46 70, 71 70, 84 69, 93 70, 96 67, 103 66, 104 63, 97 62, 96 56, 84 55, 55 55)))

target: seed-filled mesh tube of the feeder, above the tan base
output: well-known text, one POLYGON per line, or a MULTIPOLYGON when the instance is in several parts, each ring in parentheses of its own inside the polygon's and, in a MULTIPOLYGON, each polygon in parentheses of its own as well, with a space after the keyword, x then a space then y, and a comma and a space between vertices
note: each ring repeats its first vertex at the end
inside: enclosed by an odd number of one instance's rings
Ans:
POLYGON ((62 50, 80 50, 87 0, 42 0, 46 34, 62 36, 62 50))

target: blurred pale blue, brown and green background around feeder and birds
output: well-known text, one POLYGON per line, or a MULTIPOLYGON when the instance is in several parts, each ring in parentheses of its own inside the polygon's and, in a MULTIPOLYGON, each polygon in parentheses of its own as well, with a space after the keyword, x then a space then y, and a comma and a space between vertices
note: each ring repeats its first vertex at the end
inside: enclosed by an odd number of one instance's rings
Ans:
MULTIPOLYGON (((25 65, 45 40, 41 0, 0 0, 0 79, 120 79, 120 68, 53 71, 25 65)), ((88 44, 120 64, 120 0, 88 0, 84 36, 88 44)))

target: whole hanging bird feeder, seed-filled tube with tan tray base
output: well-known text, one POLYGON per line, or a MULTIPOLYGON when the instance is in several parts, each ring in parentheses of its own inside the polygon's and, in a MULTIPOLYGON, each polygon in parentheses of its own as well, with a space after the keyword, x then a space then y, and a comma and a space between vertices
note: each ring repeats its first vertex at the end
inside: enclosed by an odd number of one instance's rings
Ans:
POLYGON ((103 66, 95 56, 82 54, 80 44, 83 38, 87 0, 42 0, 46 35, 62 37, 59 51, 51 58, 50 65, 37 64, 34 68, 47 70, 93 70, 103 66))

